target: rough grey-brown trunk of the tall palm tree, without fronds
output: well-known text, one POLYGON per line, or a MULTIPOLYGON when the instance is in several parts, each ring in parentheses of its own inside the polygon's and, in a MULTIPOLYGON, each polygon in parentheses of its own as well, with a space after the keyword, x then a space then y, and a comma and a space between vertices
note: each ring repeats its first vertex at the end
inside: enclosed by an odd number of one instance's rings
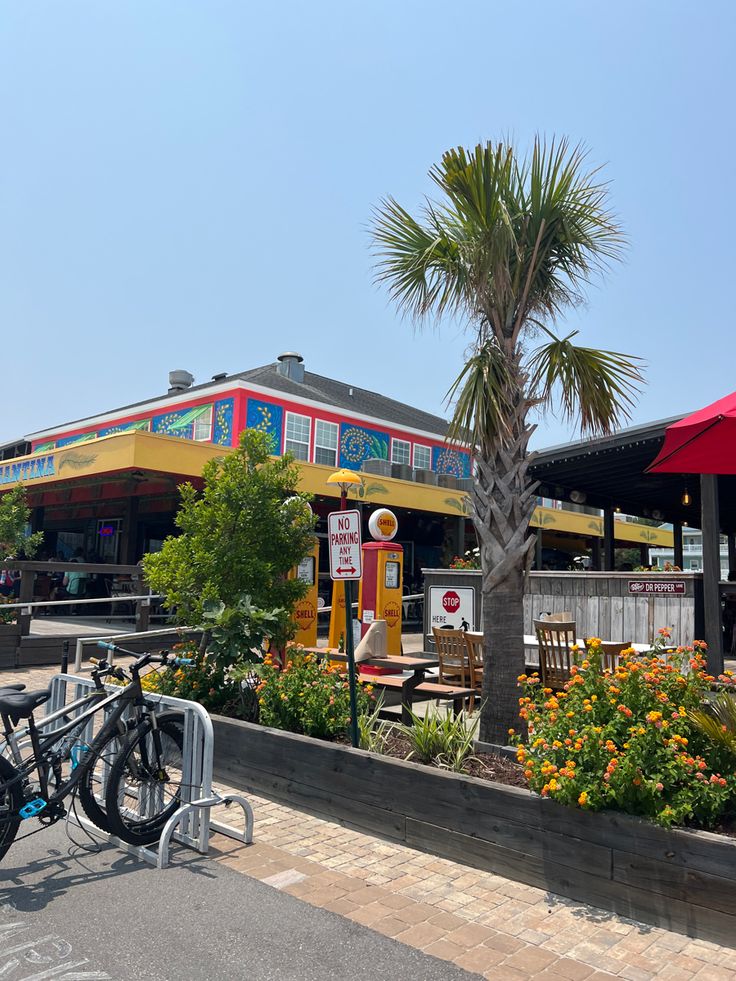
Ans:
POLYGON ((473 522, 481 552, 483 597, 483 704, 480 738, 505 744, 518 727, 517 678, 524 670, 524 581, 534 536, 529 535, 536 484, 527 478, 528 403, 517 378, 505 439, 476 459, 473 522))

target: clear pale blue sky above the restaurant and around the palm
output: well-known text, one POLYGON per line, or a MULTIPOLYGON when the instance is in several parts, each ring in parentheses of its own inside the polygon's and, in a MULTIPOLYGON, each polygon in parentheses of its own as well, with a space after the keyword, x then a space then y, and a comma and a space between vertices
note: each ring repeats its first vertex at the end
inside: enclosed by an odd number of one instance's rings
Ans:
POLYGON ((648 362, 634 421, 732 391, 735 9, 2 0, 0 440, 290 349, 442 411, 462 324, 416 333, 373 285, 371 208, 535 132, 606 165, 630 240, 559 329, 648 362))

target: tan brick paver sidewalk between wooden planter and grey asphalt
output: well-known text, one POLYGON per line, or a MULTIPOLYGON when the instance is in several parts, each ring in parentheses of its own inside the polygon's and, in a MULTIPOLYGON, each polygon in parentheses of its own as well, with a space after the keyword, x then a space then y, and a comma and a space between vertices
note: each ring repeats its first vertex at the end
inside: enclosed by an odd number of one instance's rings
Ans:
MULTIPOLYGON (((0 672, 44 687, 55 669, 0 672)), ((249 796, 255 843, 212 855, 244 875, 495 981, 736 981, 736 950, 690 940, 249 796)), ((238 815, 218 815, 237 824, 238 815)))

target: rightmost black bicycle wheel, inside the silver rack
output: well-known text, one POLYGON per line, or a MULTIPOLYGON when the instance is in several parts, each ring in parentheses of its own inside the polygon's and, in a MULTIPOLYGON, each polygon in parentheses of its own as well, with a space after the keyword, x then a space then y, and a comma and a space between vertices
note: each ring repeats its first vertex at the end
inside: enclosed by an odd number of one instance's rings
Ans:
POLYGON ((110 768, 105 794, 111 834, 131 845, 157 841, 181 804, 183 732, 170 719, 158 719, 160 753, 150 719, 123 743, 110 768))

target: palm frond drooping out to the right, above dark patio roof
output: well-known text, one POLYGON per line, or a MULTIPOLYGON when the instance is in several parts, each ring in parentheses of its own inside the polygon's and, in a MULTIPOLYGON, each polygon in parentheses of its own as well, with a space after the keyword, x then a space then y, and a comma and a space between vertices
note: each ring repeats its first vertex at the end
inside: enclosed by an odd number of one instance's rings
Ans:
POLYGON ((610 433, 631 415, 643 381, 640 358, 572 343, 577 331, 551 338, 529 359, 530 387, 540 402, 559 405, 583 433, 610 433))

